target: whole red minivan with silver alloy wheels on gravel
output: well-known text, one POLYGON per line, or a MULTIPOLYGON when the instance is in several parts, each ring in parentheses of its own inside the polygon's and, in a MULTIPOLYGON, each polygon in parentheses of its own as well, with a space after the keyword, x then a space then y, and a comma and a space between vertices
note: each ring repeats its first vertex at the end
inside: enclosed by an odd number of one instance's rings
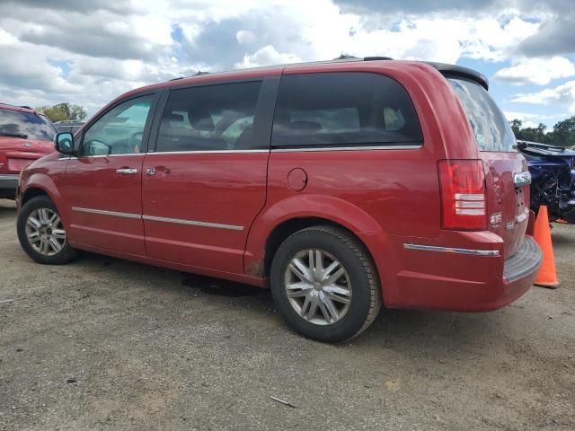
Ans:
POLYGON ((369 58, 127 92, 22 172, 18 237, 40 263, 85 250, 270 286, 323 341, 382 303, 494 310, 541 252, 487 89, 464 67, 369 58))

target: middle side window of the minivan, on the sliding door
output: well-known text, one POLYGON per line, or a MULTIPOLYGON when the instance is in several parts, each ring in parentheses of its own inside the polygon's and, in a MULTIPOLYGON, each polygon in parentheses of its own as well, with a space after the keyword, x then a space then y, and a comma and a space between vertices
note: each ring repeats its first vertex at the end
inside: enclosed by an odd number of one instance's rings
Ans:
POLYGON ((253 148, 253 118, 261 82, 215 84, 170 93, 156 151, 253 148))

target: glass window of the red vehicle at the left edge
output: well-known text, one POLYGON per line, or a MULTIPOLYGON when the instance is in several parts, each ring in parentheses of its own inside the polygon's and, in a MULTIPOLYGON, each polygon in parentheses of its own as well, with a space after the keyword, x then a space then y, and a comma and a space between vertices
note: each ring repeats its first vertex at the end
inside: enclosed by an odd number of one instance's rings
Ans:
POLYGON ((0 110, 0 136, 54 139, 56 128, 43 115, 18 110, 0 110))

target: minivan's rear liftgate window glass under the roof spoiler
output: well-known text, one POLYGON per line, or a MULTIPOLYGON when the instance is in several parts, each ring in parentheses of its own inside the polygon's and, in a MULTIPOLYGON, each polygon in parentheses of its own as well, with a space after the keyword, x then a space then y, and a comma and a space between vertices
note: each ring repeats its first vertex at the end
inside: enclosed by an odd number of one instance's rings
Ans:
POLYGON ((480 84, 449 79, 475 134, 480 151, 515 152, 515 135, 503 112, 480 84))

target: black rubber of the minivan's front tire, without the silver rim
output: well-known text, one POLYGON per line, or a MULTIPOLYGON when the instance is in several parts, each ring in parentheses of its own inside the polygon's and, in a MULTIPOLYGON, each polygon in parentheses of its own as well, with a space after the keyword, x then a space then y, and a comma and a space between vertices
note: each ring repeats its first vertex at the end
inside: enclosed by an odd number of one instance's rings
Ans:
POLYGON ((54 202, 52 202, 52 199, 50 199, 48 196, 44 195, 38 196, 36 198, 31 198, 24 204, 20 214, 18 215, 18 222, 16 224, 18 240, 20 241, 20 245, 22 245, 22 249, 26 251, 26 254, 28 254, 31 259, 37 261, 38 263, 42 263, 44 265, 64 265, 74 260, 77 256, 77 251, 70 247, 67 238, 66 242, 62 246, 62 249, 52 255, 45 255, 39 251, 36 251, 28 241, 28 236, 26 233, 26 223, 28 221, 28 217, 33 211, 42 208, 49 209, 53 213, 58 214, 57 207, 54 205, 54 202))

